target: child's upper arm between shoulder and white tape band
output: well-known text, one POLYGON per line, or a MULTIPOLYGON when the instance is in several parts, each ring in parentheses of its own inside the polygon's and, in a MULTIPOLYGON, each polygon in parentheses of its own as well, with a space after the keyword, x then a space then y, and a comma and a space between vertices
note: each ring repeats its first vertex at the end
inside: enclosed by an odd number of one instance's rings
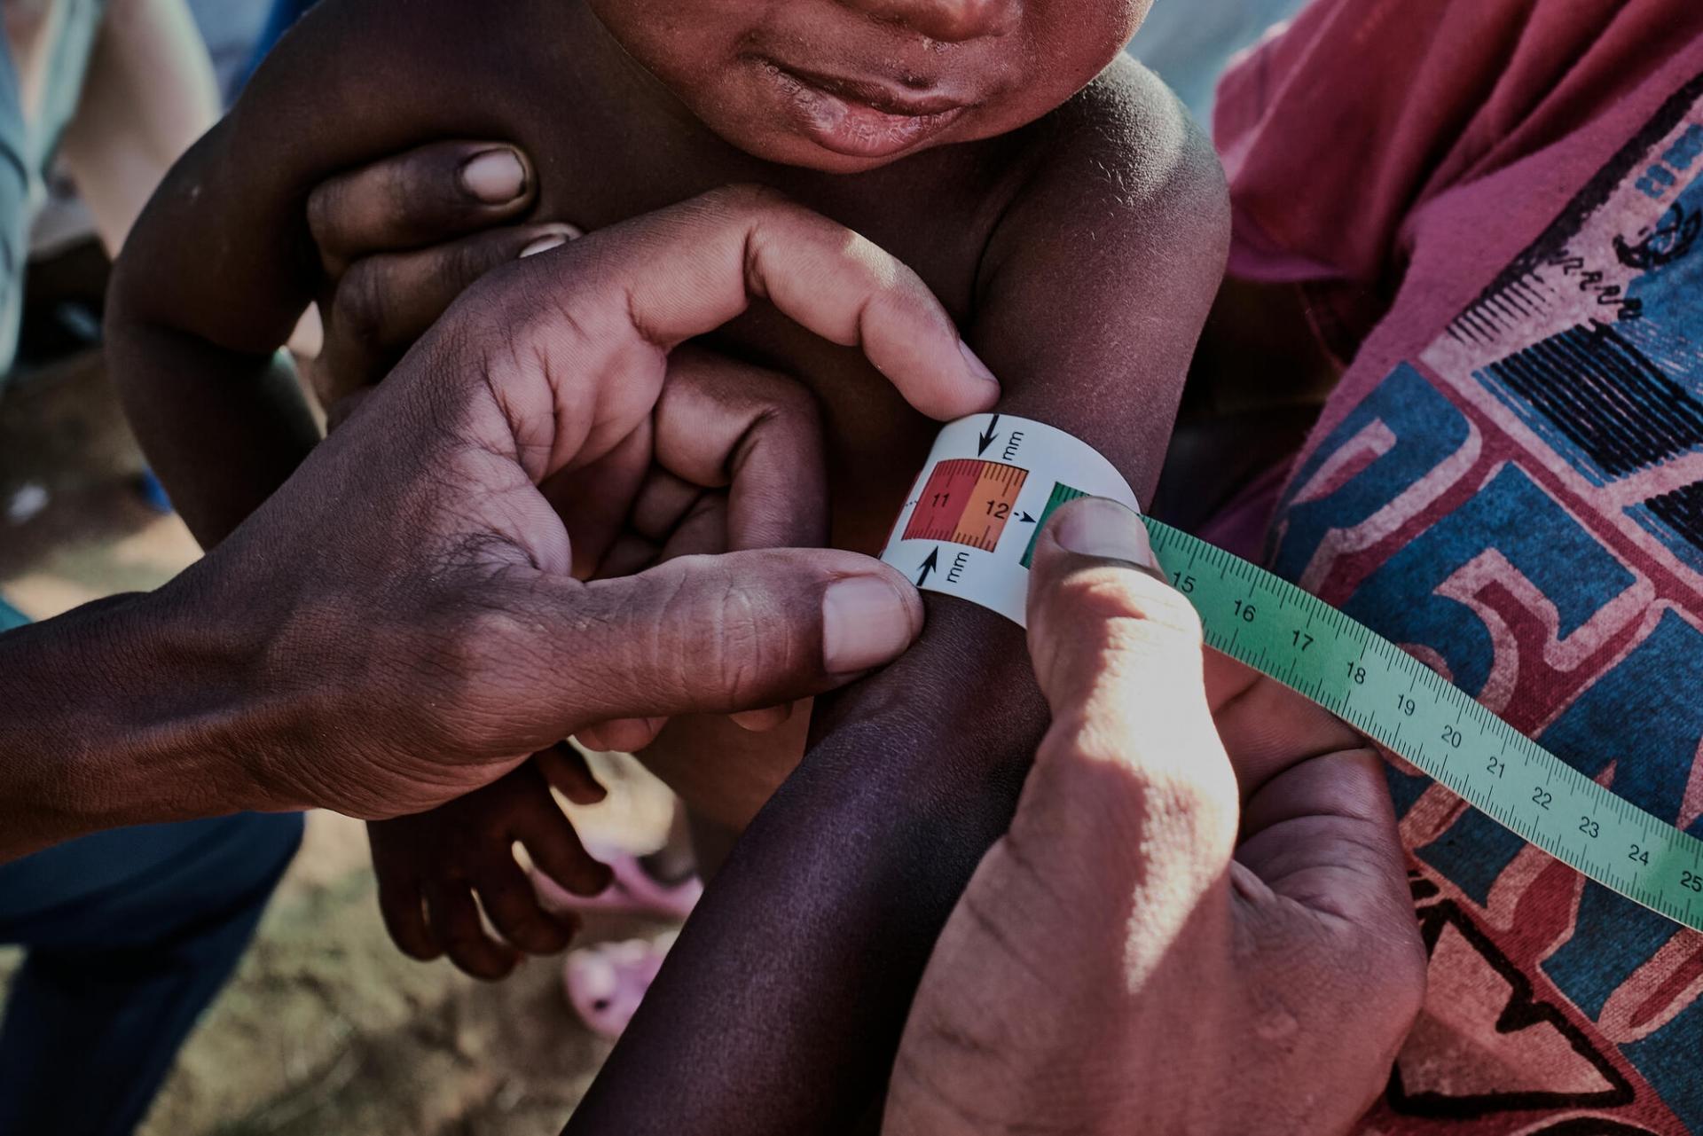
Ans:
POLYGON ((1068 429, 1148 501, 1230 206, 1199 126, 1139 66, 1115 65, 1051 119, 983 257, 969 339, 1003 409, 1068 429))

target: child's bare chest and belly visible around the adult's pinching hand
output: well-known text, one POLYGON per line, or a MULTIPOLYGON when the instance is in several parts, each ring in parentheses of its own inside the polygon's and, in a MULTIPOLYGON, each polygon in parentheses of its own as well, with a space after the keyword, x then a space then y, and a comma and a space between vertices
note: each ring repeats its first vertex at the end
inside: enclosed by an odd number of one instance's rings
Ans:
MULTIPOLYGON (((482 92, 489 123, 479 136, 518 143, 536 167, 533 220, 596 230, 717 186, 763 182, 896 254, 960 325, 974 313, 988 237, 1049 133, 1042 119, 855 175, 778 167, 669 106, 581 3, 504 3, 490 9, 487 24, 489 34, 465 51, 444 55, 436 44, 399 58, 433 60, 434 89, 482 92), (444 60, 465 72, 443 73, 444 60)), ((1115 87, 1085 97, 1110 99, 1115 87)), ((911 410, 857 349, 809 336, 766 305, 724 329, 714 346, 814 392, 828 441, 829 540, 875 554, 937 424, 911 410)), ((725 719, 683 719, 644 756, 702 816, 741 828, 797 763, 806 726, 806 714, 768 734, 725 719)))

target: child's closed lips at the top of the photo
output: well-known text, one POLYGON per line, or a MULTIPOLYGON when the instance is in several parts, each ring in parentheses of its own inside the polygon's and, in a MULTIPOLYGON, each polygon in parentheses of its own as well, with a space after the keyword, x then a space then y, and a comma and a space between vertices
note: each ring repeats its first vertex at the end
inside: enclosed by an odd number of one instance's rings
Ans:
POLYGON ((967 104, 949 95, 899 94, 882 83, 814 75, 758 60, 794 121, 824 150, 891 158, 950 126, 967 104))

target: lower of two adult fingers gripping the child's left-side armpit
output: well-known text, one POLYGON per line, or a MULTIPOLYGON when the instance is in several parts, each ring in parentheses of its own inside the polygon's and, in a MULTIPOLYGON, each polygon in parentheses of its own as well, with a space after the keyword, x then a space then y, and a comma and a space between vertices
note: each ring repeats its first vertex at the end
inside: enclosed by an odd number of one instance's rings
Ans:
POLYGON ((320 405, 330 407, 383 378, 455 298, 487 273, 576 235, 567 225, 509 225, 351 262, 330 295, 322 296, 324 346, 312 371, 320 405))

